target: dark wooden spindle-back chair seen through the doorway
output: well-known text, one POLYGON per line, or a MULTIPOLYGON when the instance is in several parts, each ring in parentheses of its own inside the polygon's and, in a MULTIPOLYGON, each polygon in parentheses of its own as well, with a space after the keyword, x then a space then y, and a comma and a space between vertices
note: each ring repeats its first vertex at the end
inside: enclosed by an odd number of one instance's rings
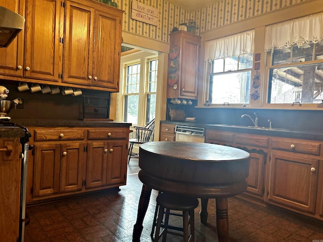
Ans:
MULTIPOLYGON (((129 140, 128 164, 130 158, 134 157, 132 153, 134 144, 143 144, 153 140, 153 131, 155 128, 155 119, 152 119, 145 127, 134 126, 136 138, 129 140)), ((136 154, 139 155, 139 154, 136 154)))

